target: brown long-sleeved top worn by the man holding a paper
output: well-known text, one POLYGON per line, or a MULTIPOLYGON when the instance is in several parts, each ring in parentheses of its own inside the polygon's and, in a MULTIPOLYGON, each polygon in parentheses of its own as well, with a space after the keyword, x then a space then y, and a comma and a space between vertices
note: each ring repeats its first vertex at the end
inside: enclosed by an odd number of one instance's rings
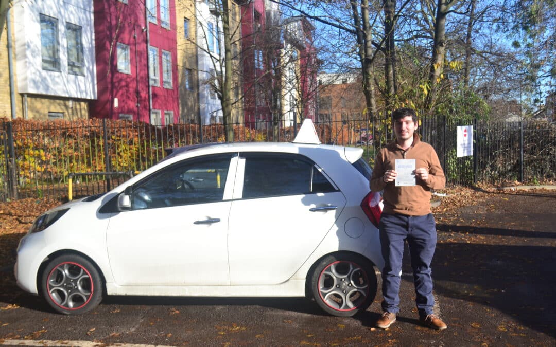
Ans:
POLYGON ((384 190, 384 213, 426 215, 431 213, 430 190, 444 188, 446 178, 434 148, 428 143, 421 142, 419 135, 414 133, 413 144, 407 150, 404 151, 396 143, 391 143, 380 150, 376 155, 369 184, 373 192, 384 190), (383 175, 386 170, 395 169, 395 159, 415 159, 415 169, 428 169, 429 178, 426 182, 416 179, 414 187, 396 187, 395 182, 384 183, 383 175))

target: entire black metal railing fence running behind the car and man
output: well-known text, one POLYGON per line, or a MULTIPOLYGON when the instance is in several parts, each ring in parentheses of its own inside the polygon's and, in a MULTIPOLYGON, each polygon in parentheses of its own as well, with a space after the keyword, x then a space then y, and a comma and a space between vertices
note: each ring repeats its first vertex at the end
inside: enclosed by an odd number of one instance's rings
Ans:
MULTIPOLYGON (((376 150, 393 140, 391 121, 374 126, 361 115, 323 117, 322 143, 358 146, 371 165, 376 150), (331 119, 338 119, 332 121, 331 119)), ((234 124, 235 142, 290 142, 299 125, 234 124)), ((421 122, 421 136, 436 149, 449 186, 477 182, 538 183, 556 179, 556 125, 543 121, 489 123, 442 116, 421 122), (474 125, 474 155, 456 157, 458 125, 474 125)), ((223 142, 222 124, 156 127, 125 120, 38 122, 17 119, 0 127, 0 200, 73 197, 106 192, 158 162, 165 148, 223 142)))

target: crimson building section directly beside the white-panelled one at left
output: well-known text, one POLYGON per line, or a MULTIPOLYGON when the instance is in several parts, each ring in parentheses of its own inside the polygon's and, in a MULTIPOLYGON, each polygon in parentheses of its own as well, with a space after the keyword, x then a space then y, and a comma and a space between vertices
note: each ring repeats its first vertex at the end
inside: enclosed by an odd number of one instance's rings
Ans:
POLYGON ((174 0, 96 0, 98 98, 91 117, 177 123, 174 0))

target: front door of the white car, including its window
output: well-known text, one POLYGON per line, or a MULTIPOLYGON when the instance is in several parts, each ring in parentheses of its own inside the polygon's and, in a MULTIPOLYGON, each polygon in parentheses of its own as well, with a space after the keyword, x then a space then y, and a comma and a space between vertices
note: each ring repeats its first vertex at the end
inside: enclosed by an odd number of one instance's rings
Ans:
POLYGON ((187 159, 133 185, 132 210, 111 217, 118 285, 227 285, 227 225, 237 153, 187 159), (230 182, 230 184, 228 184, 230 182))

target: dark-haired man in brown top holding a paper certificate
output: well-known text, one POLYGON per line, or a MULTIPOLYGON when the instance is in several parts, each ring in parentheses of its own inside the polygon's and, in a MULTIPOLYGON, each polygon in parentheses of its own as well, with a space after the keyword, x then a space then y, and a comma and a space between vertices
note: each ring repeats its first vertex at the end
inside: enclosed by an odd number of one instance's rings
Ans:
POLYGON ((430 263, 436 248, 430 190, 444 188, 446 179, 434 148, 421 142, 415 133, 418 128, 415 110, 397 109, 392 118, 396 142, 380 150, 370 180, 373 192, 384 191, 384 209, 379 223, 385 261, 382 271, 384 314, 376 326, 386 329, 396 321, 400 304, 401 260, 404 241, 407 240, 419 318, 429 328, 446 329, 446 324, 433 313, 433 280, 430 276, 430 263))

